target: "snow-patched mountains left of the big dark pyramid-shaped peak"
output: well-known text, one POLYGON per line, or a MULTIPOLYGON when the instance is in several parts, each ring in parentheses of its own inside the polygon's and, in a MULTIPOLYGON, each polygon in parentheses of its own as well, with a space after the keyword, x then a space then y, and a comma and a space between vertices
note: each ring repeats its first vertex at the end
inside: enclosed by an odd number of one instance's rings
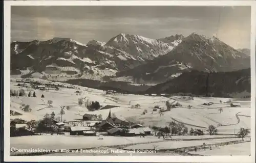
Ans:
POLYGON ((101 80, 165 55, 179 42, 169 44, 127 34, 119 34, 107 43, 92 40, 81 44, 70 38, 16 41, 11 43, 11 74, 33 76, 39 72, 46 77, 58 74, 101 80))

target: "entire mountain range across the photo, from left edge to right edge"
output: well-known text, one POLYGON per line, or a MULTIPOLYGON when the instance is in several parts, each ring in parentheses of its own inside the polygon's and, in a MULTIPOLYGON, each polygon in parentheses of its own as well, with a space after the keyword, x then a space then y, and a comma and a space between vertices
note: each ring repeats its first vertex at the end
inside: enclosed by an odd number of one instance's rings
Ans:
POLYGON ((121 33, 107 42, 87 44, 70 38, 11 43, 12 75, 72 83, 87 79, 113 87, 115 82, 161 86, 192 71, 224 73, 248 68, 249 49, 234 49, 216 37, 197 33, 160 39, 121 33))

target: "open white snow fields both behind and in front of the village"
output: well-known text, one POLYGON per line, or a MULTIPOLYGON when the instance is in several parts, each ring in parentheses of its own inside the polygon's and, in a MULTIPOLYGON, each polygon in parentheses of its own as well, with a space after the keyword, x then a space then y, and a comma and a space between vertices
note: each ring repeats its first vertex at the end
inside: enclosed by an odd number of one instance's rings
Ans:
MULTIPOLYGON (((47 83, 48 81, 41 80, 47 83)), ((65 83, 56 83, 65 86, 70 86, 65 83)), ((29 85, 29 84, 28 84, 29 85)), ((19 90, 17 83, 11 82, 11 89, 19 90)), ((56 90, 40 91, 32 88, 23 88, 28 94, 29 91, 36 93, 36 97, 11 97, 10 109, 22 115, 11 116, 11 119, 22 118, 30 121, 32 119, 39 120, 44 117, 46 113, 55 113, 55 118, 60 117, 60 106, 69 106, 70 109, 65 109, 65 114, 62 120, 75 121, 82 119, 85 113, 102 115, 105 119, 110 109, 98 110, 94 112, 88 111, 87 107, 82 104, 78 105, 78 98, 84 100, 90 99, 99 101, 100 105, 116 105, 119 107, 111 108, 111 112, 119 118, 125 118, 129 121, 143 122, 145 126, 166 126, 171 121, 178 121, 184 123, 188 129, 199 128, 206 133, 209 125, 222 125, 217 127, 220 134, 233 134, 237 133, 241 127, 250 128, 250 99, 231 99, 231 101, 239 102, 241 107, 230 107, 229 98, 214 98, 214 97, 194 97, 191 99, 187 96, 172 96, 172 97, 157 97, 157 96, 144 96, 132 94, 113 94, 106 95, 105 91, 96 90, 86 87, 74 86, 74 88, 61 88, 56 90), (80 93, 75 93, 76 91, 80 93), (44 94, 44 98, 41 95, 44 94), (52 100, 51 106, 47 103, 52 100), (222 103, 220 102, 222 101, 222 103), (182 106, 172 108, 171 111, 164 112, 162 116, 158 112, 153 112, 154 106, 159 106, 166 109, 165 102, 170 103, 179 102, 182 106), (212 105, 203 105, 203 103, 213 102, 212 105), (32 111, 25 113, 20 109, 22 104, 30 105, 32 111), (140 104, 139 108, 133 108, 132 105, 140 104), (191 105, 191 108, 188 108, 191 105), (220 113, 219 108, 223 108, 220 113), (147 110, 145 115, 142 114, 147 110)), ((228 135, 230 136, 230 135, 228 135)), ((200 139, 206 137, 213 137, 210 135, 203 136, 173 136, 175 139, 200 139)), ((214 135, 214 137, 224 137, 224 135, 214 135)), ((236 138, 234 138, 236 139, 236 138)), ((160 139, 162 140, 162 138, 160 139)), ((218 143, 226 142, 228 139, 216 140, 202 140, 202 141, 168 141, 168 143, 157 143, 161 148, 178 148, 182 146, 201 145, 202 143, 218 143)), ((231 139, 229 139, 231 140, 231 139)), ((17 148, 89 148, 99 147, 105 145, 119 145, 126 143, 136 143, 145 141, 158 141, 156 137, 148 137, 140 139, 138 137, 122 138, 122 137, 104 137, 104 140, 98 140, 97 137, 79 137, 67 135, 41 135, 41 136, 28 136, 28 137, 15 137, 11 138, 11 147, 17 148), (72 143, 71 143, 72 142, 72 143)), ((127 148, 152 148, 152 144, 143 144, 131 146, 127 148)), ((221 147, 222 148, 222 147, 221 147)), ((249 147, 248 147, 249 150, 249 147)))

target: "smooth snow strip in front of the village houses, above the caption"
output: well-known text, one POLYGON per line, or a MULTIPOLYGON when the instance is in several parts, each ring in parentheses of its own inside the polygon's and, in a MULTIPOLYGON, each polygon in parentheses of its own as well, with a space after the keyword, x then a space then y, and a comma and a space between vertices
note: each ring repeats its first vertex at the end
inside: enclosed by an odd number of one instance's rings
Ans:
POLYGON ((84 137, 77 135, 34 135, 11 138, 11 148, 18 149, 77 149, 77 148, 96 148, 100 146, 124 145, 131 143, 163 141, 156 137, 84 137), (29 140, 29 141, 28 141, 29 140))

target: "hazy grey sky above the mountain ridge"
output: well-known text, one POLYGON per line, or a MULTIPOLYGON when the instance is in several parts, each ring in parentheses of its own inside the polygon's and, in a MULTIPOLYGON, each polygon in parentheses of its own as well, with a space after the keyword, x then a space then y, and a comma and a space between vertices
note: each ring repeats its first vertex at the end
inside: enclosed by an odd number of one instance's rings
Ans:
POLYGON ((12 6, 11 41, 107 42, 119 33, 164 38, 196 32, 250 48, 250 7, 12 6))

